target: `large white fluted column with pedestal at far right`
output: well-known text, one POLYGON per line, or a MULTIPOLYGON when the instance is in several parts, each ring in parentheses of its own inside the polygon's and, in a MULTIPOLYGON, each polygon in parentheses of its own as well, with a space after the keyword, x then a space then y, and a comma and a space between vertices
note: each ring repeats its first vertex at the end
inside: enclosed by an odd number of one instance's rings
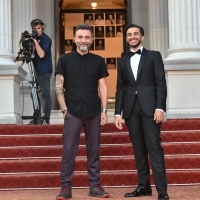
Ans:
POLYGON ((168 0, 167 117, 200 117, 200 0, 168 0))

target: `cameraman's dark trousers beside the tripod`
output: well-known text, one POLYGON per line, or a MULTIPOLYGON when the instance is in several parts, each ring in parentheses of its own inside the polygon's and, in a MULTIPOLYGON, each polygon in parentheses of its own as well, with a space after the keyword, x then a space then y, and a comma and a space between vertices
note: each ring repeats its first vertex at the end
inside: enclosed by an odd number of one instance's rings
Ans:
MULTIPOLYGON (((50 93, 50 80, 52 73, 37 75, 37 81, 42 91, 42 98, 44 100, 43 118, 49 122, 51 115, 51 93, 50 93)), ((42 102, 41 102, 42 103, 42 102)), ((43 104, 42 104, 43 105, 43 104)))

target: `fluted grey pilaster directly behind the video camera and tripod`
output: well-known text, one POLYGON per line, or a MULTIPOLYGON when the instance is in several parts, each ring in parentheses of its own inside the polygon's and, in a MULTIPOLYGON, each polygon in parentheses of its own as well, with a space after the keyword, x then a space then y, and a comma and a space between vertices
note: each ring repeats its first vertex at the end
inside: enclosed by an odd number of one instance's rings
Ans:
MULTIPOLYGON (((31 21, 37 18, 37 0, 12 0, 12 27, 13 27, 13 53, 17 56, 20 49, 21 34, 24 31, 32 32, 31 21)), ((21 61, 17 63, 21 65, 21 61)), ((20 87, 20 113, 22 116, 33 115, 33 102, 31 99, 30 84, 28 81, 32 80, 30 73, 30 66, 24 63, 22 68, 27 72, 26 80, 24 80, 20 87)), ((29 120, 30 121, 30 120, 29 120)))

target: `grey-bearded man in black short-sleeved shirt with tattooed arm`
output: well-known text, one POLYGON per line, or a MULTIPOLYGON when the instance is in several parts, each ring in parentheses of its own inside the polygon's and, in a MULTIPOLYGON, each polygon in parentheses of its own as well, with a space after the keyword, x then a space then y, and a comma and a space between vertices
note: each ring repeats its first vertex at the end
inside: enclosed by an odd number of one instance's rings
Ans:
POLYGON ((55 90, 64 118, 61 191, 56 199, 72 197, 71 178, 82 127, 85 129, 89 196, 108 198, 109 193, 100 187, 99 147, 101 125, 107 123, 106 77, 109 74, 104 59, 88 50, 93 41, 89 25, 76 27, 74 41, 77 50, 61 55, 55 70, 55 90))

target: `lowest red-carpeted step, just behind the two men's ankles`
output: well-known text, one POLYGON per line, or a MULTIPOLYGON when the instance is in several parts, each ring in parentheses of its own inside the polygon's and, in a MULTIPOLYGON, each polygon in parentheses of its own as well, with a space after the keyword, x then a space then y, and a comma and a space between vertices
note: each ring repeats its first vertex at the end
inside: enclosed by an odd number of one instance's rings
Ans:
MULTIPOLYGON (((102 186, 130 186, 137 185, 136 171, 101 171, 102 186)), ((167 170, 169 184, 199 183, 200 170, 167 170)), ((151 175, 151 184, 154 184, 151 175)), ((75 172, 72 178, 73 187, 88 187, 87 172, 75 172)), ((0 174, 0 188, 49 188, 60 187, 59 173, 46 174, 0 174)))

